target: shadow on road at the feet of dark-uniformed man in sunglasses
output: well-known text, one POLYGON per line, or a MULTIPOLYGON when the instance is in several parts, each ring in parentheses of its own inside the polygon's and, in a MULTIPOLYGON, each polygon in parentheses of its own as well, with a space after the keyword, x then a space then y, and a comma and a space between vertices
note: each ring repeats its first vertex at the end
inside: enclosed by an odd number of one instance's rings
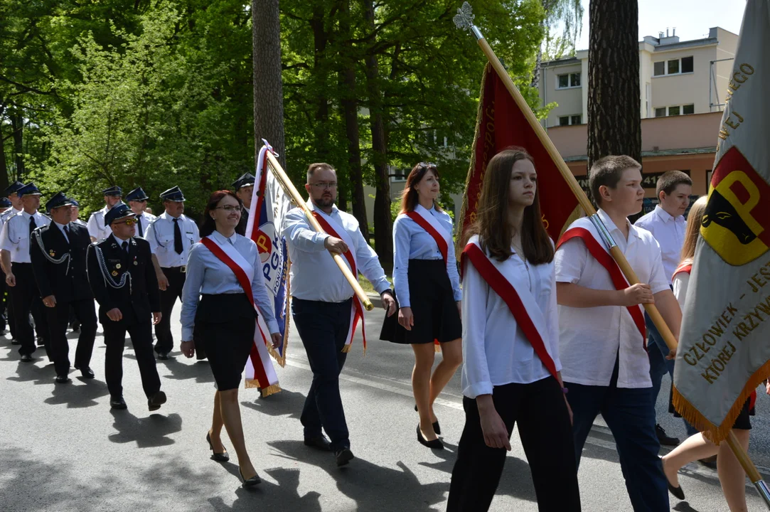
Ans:
POLYGON ((112 427, 118 430, 109 434, 112 443, 136 443, 139 448, 163 447, 175 443, 169 434, 182 430, 182 417, 177 413, 163 416, 151 414, 149 417, 139 418, 129 410, 111 409, 115 422, 112 427))

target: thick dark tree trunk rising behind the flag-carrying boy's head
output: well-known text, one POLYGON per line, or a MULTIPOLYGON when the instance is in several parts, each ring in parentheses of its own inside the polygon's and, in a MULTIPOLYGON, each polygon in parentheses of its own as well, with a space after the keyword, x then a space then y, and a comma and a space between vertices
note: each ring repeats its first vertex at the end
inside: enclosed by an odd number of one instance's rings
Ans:
POLYGON ((641 163, 637 0, 591 0, 588 168, 602 156, 641 163))

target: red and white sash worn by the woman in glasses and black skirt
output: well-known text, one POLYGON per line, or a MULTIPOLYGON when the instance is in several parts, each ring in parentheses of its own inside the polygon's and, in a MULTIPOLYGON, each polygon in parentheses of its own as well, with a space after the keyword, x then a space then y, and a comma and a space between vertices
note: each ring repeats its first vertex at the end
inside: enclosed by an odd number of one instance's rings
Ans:
MULTIPOLYGON (((213 236, 205 236, 201 239, 201 243, 233 271, 238 279, 238 283, 243 287, 243 292, 249 297, 249 302, 256 312, 257 307, 254 303, 254 295, 251 289, 251 281, 255 272, 254 266, 246 261, 241 253, 231 244, 219 244, 213 236)), ((254 387, 254 381, 256 380, 256 385, 262 389, 263 396, 280 391, 278 376, 267 352, 267 343, 270 342, 262 331, 259 330, 255 318, 254 344, 249 354, 249 363, 246 364, 246 387, 254 387)))

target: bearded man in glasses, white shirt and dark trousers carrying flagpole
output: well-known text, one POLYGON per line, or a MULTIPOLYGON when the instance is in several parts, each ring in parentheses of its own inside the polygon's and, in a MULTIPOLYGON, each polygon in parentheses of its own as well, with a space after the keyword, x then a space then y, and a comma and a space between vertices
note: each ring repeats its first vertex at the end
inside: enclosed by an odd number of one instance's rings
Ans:
POLYGON ((385 272, 377 253, 363 238, 357 219, 334 205, 337 193, 336 171, 327 163, 313 163, 307 169, 307 206, 326 233, 316 233, 303 209, 295 208, 283 221, 283 236, 289 246, 291 266, 292 315, 305 346, 313 383, 307 393, 300 421, 305 444, 332 451, 337 466, 353 459, 345 413, 340 397, 340 372, 356 327, 363 323, 357 311, 353 289, 334 263, 342 254, 354 275, 363 273, 373 284, 389 314, 396 309, 385 272), (326 440, 321 429, 331 438, 326 440))

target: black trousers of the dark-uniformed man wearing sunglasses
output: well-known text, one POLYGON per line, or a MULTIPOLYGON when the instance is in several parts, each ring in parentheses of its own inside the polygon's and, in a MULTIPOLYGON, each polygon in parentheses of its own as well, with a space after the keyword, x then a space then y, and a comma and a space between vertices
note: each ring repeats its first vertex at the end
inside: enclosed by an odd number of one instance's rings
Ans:
POLYGON ((107 320, 106 323, 102 323, 107 345, 104 376, 109 394, 113 397, 120 397, 123 394, 123 347, 126 345, 126 331, 131 336, 145 394, 149 398, 160 390, 160 377, 156 368, 155 354, 152 353, 151 326, 152 322, 149 318, 134 323, 126 323, 125 320, 119 322, 107 320))

